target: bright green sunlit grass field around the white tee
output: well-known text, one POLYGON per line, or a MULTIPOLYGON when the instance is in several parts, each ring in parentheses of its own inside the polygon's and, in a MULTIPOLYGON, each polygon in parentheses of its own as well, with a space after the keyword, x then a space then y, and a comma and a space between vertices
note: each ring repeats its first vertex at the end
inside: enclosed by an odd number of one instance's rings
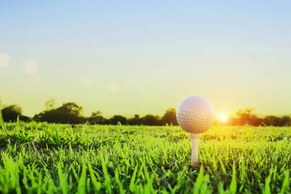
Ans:
POLYGON ((291 128, 1 122, 0 193, 291 193, 291 128))

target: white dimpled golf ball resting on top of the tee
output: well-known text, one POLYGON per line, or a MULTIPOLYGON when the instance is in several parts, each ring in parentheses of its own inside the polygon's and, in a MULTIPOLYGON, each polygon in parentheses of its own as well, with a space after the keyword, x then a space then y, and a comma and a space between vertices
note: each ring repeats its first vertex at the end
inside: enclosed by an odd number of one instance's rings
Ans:
POLYGON ((190 96, 185 98, 177 109, 179 126, 189 133, 203 133, 214 122, 214 109, 206 98, 190 96))

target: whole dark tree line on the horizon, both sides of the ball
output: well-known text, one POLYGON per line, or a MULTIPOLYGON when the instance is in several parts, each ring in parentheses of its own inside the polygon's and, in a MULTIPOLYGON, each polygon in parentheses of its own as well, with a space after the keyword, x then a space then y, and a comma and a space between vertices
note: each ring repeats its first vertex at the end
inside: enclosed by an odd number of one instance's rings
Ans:
MULTIPOLYGON (((99 125, 147 125, 147 126, 164 126, 173 125, 177 126, 176 109, 169 108, 162 116, 146 114, 140 117, 135 114, 131 118, 126 118, 122 115, 113 115, 111 118, 102 116, 102 112, 96 111, 91 116, 86 117, 83 115, 83 108, 75 102, 65 102, 60 107, 56 107, 55 99, 50 99, 45 103, 45 110, 41 113, 35 114, 32 118, 22 114, 22 108, 16 104, 10 106, 2 106, 0 100, 0 110, 5 122, 15 122, 17 116, 21 121, 37 121, 48 123, 61 123, 61 124, 99 124, 99 125)), ((291 117, 282 116, 277 117, 273 115, 259 118, 253 114, 254 109, 247 108, 239 110, 234 116, 229 117, 225 125, 232 126, 291 126, 291 117)), ((214 124, 223 124, 215 120, 214 124)))

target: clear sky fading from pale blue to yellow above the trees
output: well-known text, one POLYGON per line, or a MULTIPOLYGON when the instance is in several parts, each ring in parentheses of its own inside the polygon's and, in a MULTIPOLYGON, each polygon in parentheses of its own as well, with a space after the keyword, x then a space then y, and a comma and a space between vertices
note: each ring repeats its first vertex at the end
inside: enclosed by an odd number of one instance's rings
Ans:
POLYGON ((0 96, 25 115, 162 115, 188 96, 216 116, 291 113, 291 1, 0 0, 0 96))

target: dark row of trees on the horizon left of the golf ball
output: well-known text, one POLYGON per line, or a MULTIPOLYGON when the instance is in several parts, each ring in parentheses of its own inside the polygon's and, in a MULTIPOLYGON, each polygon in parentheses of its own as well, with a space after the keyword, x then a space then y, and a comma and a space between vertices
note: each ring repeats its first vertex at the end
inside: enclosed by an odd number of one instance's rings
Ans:
MULTIPOLYGON (((1 110, 1 109, 0 109, 1 110)), ((148 126, 163 126, 174 125, 177 126, 176 109, 169 108, 164 115, 146 114, 140 117, 135 114, 132 118, 126 118, 122 115, 113 115, 111 118, 102 116, 102 112, 96 111, 91 116, 83 115, 83 108, 75 102, 65 102, 62 106, 56 108, 55 99, 50 99, 45 103, 45 110, 41 113, 35 114, 32 118, 24 116, 22 109, 16 104, 5 106, 2 110, 3 120, 5 122, 15 122, 17 116, 21 121, 37 121, 48 123, 61 124, 100 124, 100 125, 148 125, 148 126)))

